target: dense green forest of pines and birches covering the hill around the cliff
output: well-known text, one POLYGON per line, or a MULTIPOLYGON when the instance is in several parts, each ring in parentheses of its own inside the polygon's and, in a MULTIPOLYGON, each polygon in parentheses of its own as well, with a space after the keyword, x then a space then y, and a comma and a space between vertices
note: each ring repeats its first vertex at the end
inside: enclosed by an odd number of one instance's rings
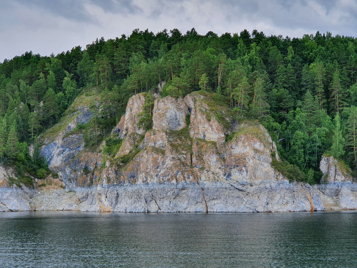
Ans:
MULTIPOLYGON (((91 138, 97 145, 130 96, 167 81, 162 97, 212 91, 231 106, 232 120, 259 120, 284 163, 304 174, 296 179, 318 182, 322 154, 357 169, 356 52, 355 38, 330 32, 283 38, 257 30, 199 35, 194 28, 186 34, 135 29, 56 56, 26 52, 0 64, 0 161, 41 177, 46 163, 36 137, 60 120, 76 96, 101 96, 101 108, 91 106, 100 125, 91 138)), ((145 109, 152 101, 147 94, 145 109)), ((144 113, 140 123, 150 128, 150 122, 144 113)))

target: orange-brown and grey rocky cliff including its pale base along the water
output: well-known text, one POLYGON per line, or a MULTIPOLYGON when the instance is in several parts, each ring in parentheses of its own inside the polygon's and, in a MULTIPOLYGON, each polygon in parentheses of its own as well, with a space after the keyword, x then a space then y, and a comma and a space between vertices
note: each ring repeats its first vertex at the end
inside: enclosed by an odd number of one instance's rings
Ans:
POLYGON ((321 161, 321 170, 328 170, 323 177, 327 184, 288 182, 271 164, 279 158, 265 128, 245 119, 232 123, 231 109, 213 98, 211 93, 193 92, 185 98, 156 99, 152 129, 146 131, 137 125, 145 95, 132 96, 112 131, 110 139, 120 139, 121 146, 111 154, 105 150, 106 142, 86 147, 83 135, 75 131, 78 124, 90 121, 93 115, 88 105, 100 105, 99 97, 77 98, 65 118, 39 137, 41 154, 65 189, 31 192, 3 183, 0 210, 293 212, 357 208, 357 187, 346 176, 340 179, 338 165, 332 167, 333 159, 321 161), (16 207, 16 201, 10 202, 9 191, 20 191, 22 199, 17 198, 17 203, 24 205, 16 207))

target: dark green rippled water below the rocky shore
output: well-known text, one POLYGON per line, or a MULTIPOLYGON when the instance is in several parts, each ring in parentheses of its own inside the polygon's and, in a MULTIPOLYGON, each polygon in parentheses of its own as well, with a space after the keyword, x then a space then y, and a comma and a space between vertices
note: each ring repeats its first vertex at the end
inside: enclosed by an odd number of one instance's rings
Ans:
POLYGON ((0 213, 0 267, 357 267, 357 213, 0 213))

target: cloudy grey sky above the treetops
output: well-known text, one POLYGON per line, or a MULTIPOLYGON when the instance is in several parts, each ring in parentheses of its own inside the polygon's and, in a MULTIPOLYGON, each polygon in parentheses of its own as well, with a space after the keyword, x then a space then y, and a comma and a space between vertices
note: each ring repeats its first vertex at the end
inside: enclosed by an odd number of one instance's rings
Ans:
POLYGON ((55 55, 80 45, 177 28, 185 34, 240 33, 301 38, 316 31, 357 36, 356 0, 0 0, 0 61, 32 50, 55 55))

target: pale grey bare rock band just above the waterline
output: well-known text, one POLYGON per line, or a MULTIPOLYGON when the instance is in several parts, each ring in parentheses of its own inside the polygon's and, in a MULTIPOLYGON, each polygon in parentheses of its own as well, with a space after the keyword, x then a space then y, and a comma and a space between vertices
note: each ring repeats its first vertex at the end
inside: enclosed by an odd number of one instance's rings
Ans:
POLYGON ((357 209, 357 184, 287 180, 0 188, 0 212, 279 213, 357 209))

